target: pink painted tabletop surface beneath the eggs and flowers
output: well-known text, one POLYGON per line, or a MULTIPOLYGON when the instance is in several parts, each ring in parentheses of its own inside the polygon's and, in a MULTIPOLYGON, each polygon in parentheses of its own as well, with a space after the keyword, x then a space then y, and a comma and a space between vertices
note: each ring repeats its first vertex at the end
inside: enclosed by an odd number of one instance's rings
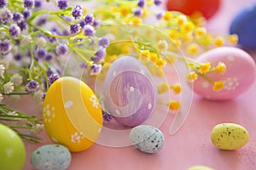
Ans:
MULTIPOLYGON (((223 4, 212 20, 208 22, 208 29, 220 33, 228 31, 230 21, 241 8, 255 0, 224 0, 223 4)), ((256 57, 256 55, 254 55, 256 57)), ((70 170, 96 169, 160 169, 185 170, 193 165, 205 165, 216 170, 253 170, 256 169, 256 82, 253 87, 241 97, 226 102, 211 102, 194 95, 189 111, 189 117, 183 127, 174 135, 169 134, 173 115, 166 116, 160 126, 166 141, 158 153, 144 154, 132 146, 113 148, 94 144, 89 150, 72 154, 70 170), (212 145, 210 133, 212 127, 221 122, 235 122, 246 127, 250 134, 248 144, 233 151, 218 150, 212 145)), ((16 104, 16 107, 39 115, 40 111, 33 101, 26 108, 16 104), (23 107, 23 108, 22 108, 23 107)), ((32 170, 30 156, 33 150, 44 144, 51 144, 43 134, 41 144, 26 143, 26 166, 24 170, 32 170)), ((119 139, 116 139, 119 140, 119 139)))

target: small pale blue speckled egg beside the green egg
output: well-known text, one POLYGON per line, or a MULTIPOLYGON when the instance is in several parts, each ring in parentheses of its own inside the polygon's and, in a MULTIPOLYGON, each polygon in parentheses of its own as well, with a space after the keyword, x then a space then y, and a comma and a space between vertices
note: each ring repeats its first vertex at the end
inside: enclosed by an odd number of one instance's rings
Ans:
POLYGON ((71 154, 61 144, 41 146, 32 153, 32 166, 37 170, 65 170, 69 167, 71 154))

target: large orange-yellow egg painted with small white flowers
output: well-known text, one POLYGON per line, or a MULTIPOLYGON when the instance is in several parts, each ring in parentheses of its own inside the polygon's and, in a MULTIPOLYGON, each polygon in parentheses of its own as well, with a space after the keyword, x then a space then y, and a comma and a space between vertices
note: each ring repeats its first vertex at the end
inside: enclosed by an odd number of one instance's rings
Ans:
POLYGON ((71 151, 88 149, 102 130, 102 109, 96 95, 75 77, 61 77, 47 91, 43 121, 49 138, 71 151))

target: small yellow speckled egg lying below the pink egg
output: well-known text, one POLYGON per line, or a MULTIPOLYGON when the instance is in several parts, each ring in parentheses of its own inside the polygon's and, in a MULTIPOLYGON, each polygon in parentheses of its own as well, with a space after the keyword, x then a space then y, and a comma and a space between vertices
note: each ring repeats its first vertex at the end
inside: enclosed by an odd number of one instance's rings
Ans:
POLYGON ((221 123, 212 128, 212 144, 221 150, 236 150, 247 144, 247 129, 235 123, 221 123))

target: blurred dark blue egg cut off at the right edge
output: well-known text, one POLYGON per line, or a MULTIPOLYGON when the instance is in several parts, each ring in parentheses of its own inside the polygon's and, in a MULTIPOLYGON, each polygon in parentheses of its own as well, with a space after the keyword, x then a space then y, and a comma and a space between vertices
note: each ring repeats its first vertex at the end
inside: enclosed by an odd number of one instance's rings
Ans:
POLYGON ((244 48, 256 49, 256 3, 250 4, 234 17, 230 34, 237 34, 238 43, 244 48))

